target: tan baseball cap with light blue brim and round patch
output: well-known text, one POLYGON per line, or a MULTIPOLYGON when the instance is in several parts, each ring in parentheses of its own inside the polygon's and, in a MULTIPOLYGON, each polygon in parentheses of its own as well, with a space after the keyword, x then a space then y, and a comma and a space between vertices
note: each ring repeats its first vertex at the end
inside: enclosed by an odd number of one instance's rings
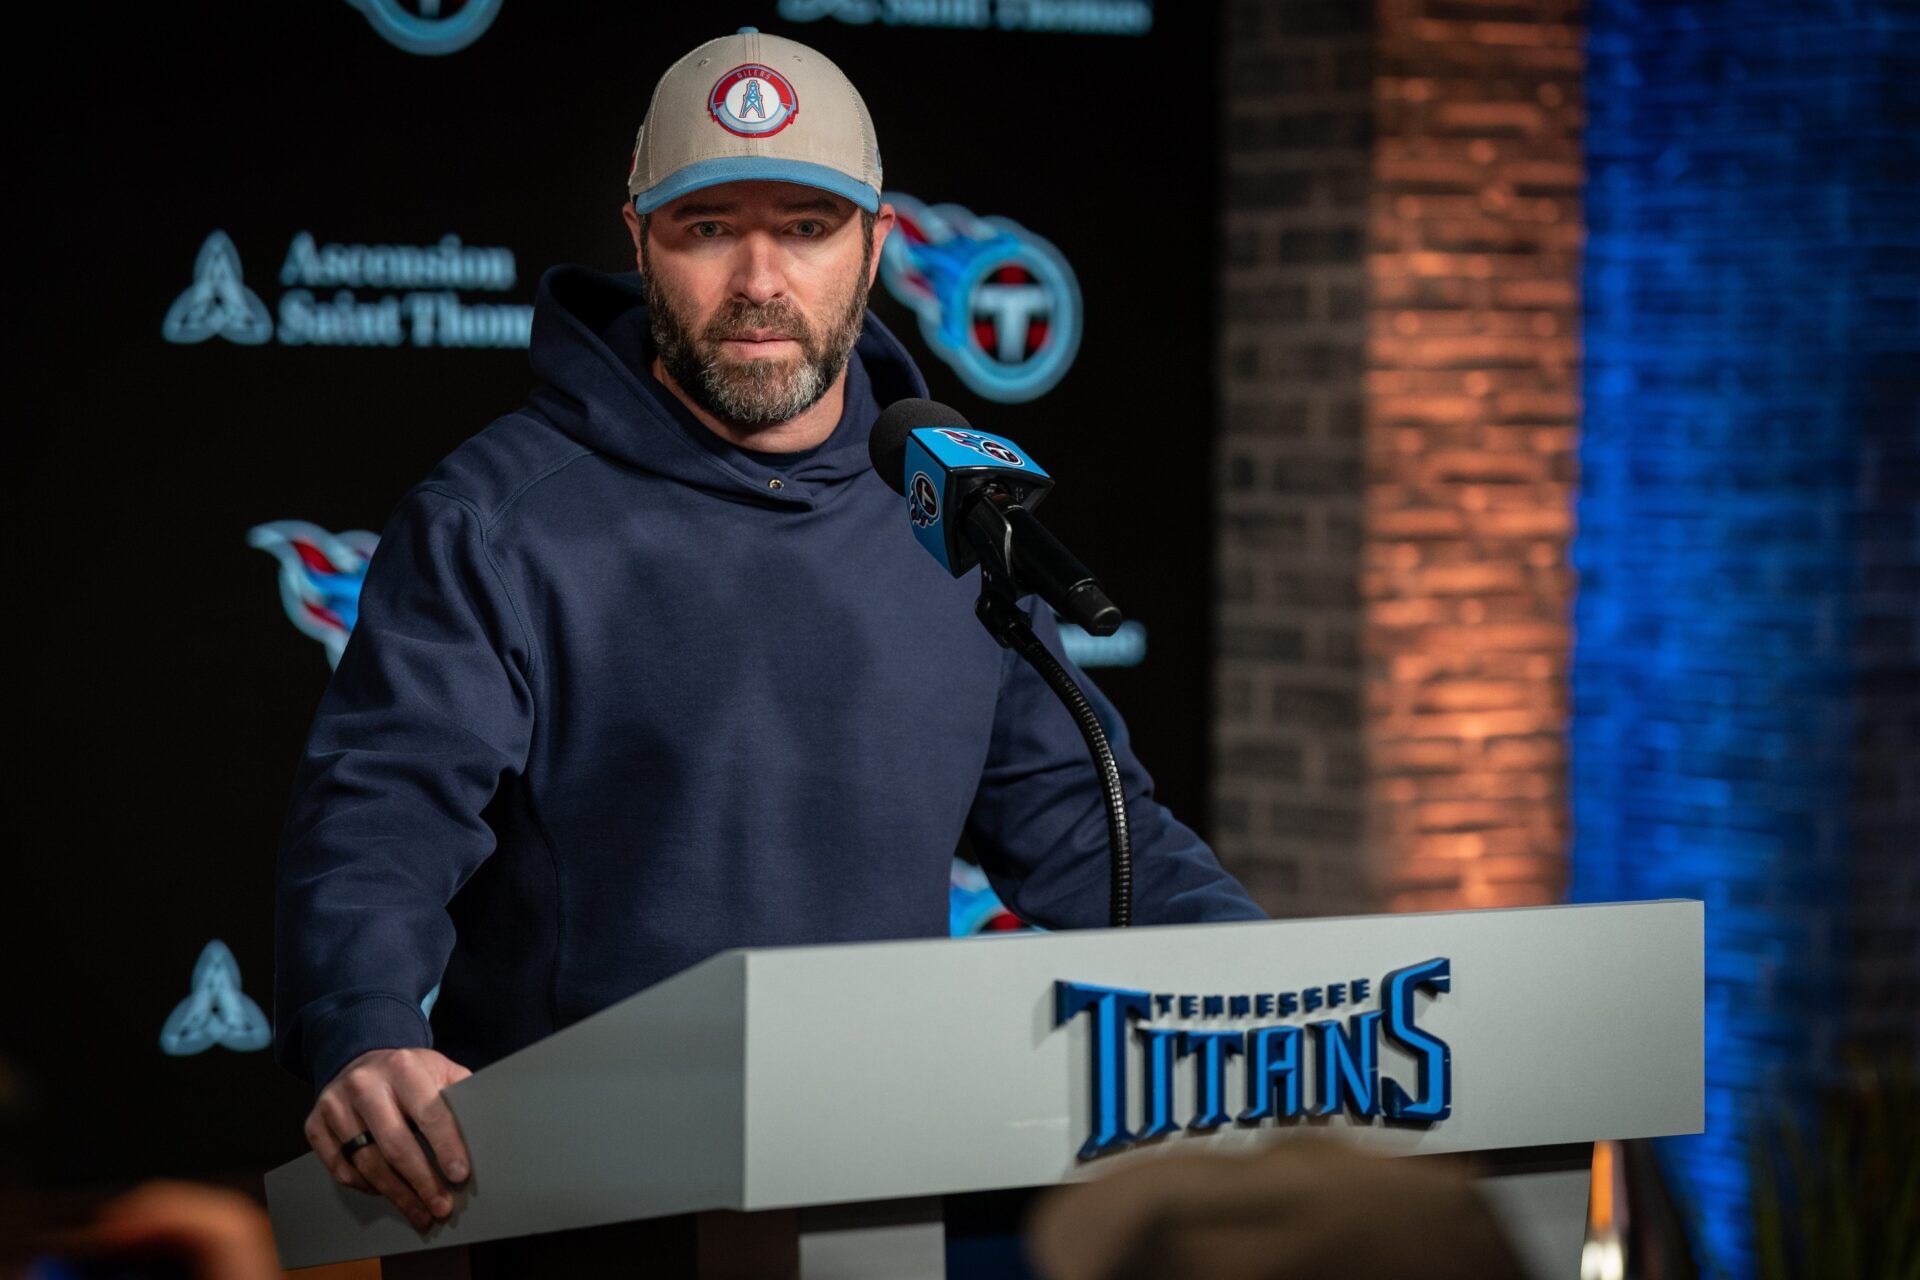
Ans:
POLYGON ((879 209, 879 140, 839 67, 755 27, 708 40, 653 86, 634 140, 634 209, 720 182, 801 182, 879 209))

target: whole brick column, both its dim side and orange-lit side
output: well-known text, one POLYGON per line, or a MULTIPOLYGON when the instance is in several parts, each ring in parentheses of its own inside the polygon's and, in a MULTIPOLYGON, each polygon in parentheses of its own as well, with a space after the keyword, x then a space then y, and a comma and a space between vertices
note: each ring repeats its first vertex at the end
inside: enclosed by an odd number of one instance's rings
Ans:
POLYGON ((1555 900, 1580 8, 1223 21, 1215 844, 1284 915, 1555 900))

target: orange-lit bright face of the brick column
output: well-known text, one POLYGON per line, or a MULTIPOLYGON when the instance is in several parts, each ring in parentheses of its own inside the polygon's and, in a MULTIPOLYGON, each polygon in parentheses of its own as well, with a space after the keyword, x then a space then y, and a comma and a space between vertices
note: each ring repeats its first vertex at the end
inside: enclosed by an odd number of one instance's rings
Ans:
POLYGON ((1565 883, 1578 15, 1377 0, 1361 635, 1392 910, 1565 883))

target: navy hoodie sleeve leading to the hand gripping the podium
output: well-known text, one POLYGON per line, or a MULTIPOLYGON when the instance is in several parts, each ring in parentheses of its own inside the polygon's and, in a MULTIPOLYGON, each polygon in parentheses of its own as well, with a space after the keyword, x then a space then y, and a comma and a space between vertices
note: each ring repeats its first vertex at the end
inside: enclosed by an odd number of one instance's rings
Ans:
POLYGON ((315 712, 280 837, 275 1057, 324 1086, 424 1048, 447 902, 493 852, 480 818, 526 766, 532 656, 476 512, 415 489, 388 520, 315 712))

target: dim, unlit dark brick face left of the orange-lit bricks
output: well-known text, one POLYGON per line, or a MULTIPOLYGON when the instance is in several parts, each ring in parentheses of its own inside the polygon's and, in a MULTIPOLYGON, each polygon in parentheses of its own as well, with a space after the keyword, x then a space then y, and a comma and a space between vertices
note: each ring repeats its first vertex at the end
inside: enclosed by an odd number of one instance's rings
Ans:
POLYGON ((1213 833, 1269 910, 1369 910, 1359 564, 1373 15, 1227 6, 1213 833))

